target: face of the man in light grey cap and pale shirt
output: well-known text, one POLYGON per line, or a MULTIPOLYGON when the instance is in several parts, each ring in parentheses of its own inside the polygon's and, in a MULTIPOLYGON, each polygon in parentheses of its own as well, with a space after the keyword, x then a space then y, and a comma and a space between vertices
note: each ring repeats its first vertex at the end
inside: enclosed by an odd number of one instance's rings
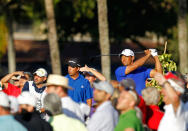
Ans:
POLYGON ((105 91, 101 91, 101 90, 98 90, 98 89, 95 89, 94 90, 94 100, 97 102, 97 103, 102 103, 106 100, 106 96, 107 96, 107 93, 105 91))

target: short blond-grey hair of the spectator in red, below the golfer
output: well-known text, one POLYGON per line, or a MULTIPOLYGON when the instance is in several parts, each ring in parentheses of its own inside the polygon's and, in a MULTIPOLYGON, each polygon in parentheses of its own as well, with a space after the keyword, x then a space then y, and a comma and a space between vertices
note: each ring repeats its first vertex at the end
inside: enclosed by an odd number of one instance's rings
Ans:
POLYGON ((142 97, 146 105, 157 105, 160 98, 160 93, 155 87, 147 87, 142 90, 142 97))

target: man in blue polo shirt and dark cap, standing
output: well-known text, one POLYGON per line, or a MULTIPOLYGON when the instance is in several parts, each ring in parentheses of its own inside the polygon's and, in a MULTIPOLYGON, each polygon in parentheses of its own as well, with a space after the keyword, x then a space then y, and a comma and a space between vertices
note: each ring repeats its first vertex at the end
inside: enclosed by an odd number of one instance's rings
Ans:
POLYGON ((76 58, 70 59, 68 61, 68 75, 66 77, 69 79, 69 86, 73 90, 68 90, 68 95, 75 102, 87 103, 90 107, 92 105, 92 88, 87 79, 79 73, 80 63, 76 58))

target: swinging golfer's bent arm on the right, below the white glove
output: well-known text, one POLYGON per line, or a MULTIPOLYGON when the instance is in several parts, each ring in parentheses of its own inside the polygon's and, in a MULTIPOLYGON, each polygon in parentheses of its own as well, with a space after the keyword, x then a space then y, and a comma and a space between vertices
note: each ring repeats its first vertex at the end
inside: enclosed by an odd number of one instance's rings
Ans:
POLYGON ((150 77, 154 77, 156 72, 159 72, 161 74, 163 73, 163 69, 162 69, 161 63, 159 61, 159 57, 154 56, 154 59, 155 59, 155 69, 151 70, 150 77))

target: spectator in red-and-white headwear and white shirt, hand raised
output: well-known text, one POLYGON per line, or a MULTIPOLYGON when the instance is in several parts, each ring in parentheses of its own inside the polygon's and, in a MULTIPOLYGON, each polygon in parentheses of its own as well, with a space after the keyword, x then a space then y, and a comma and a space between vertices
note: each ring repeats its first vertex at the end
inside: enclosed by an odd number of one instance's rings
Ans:
POLYGON ((165 113, 158 131, 186 131, 187 107, 180 101, 180 95, 184 92, 184 79, 177 72, 168 72, 165 76, 157 73, 155 79, 163 87, 162 95, 165 102, 165 113))

